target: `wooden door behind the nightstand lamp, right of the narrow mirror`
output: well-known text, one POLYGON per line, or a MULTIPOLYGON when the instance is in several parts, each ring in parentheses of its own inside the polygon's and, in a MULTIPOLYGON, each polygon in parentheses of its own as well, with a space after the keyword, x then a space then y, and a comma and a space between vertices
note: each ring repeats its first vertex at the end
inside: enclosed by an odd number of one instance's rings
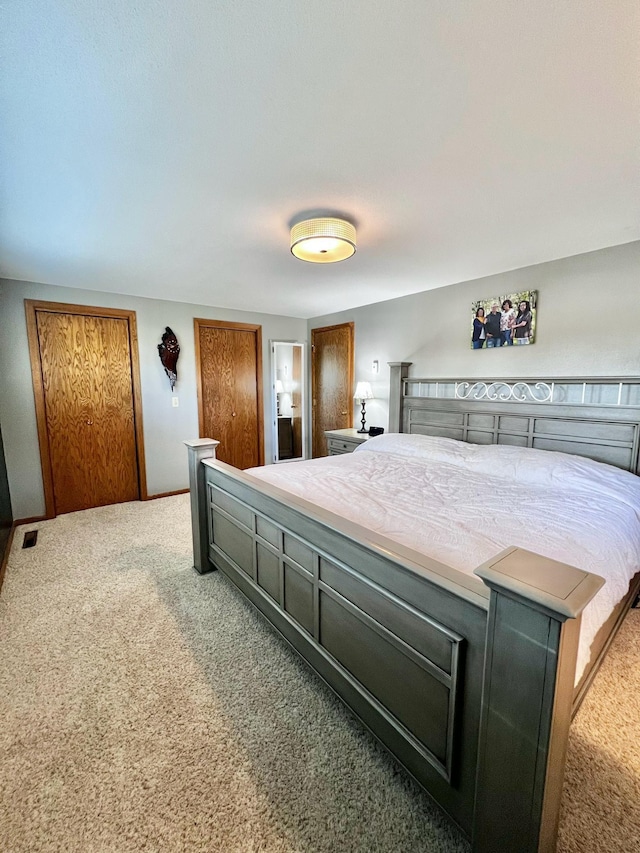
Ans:
POLYGON ((327 455, 325 430, 353 426, 353 323, 311 330, 313 457, 327 455))

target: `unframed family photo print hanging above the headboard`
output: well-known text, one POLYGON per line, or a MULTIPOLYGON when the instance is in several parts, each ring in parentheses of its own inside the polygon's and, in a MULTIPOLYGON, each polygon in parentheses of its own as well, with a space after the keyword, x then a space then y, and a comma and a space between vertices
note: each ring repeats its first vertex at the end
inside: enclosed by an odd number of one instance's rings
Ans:
POLYGON ((535 343, 537 297, 537 290, 522 290, 473 302, 471 349, 535 343))

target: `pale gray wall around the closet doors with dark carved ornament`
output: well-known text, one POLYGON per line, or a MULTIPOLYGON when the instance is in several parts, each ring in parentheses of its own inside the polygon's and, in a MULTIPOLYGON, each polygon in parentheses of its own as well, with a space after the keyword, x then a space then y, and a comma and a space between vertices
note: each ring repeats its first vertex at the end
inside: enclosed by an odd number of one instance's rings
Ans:
POLYGON ((198 437, 193 318, 260 324, 265 459, 272 458, 269 341, 306 341, 305 320, 31 282, 0 281, 0 422, 14 518, 39 516, 45 512, 25 299, 124 308, 136 312, 147 491, 150 495, 188 486, 186 449, 182 442, 198 437), (174 394, 157 349, 165 326, 171 326, 180 342, 178 382, 174 394), (172 407, 172 396, 179 398, 178 408, 172 407))

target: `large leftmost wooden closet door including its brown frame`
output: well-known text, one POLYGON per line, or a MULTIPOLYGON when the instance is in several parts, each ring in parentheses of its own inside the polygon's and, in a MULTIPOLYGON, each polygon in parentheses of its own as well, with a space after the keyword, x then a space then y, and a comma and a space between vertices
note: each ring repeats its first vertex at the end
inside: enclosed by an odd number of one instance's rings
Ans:
POLYGON ((47 515, 139 500, 133 312, 26 308, 47 515))

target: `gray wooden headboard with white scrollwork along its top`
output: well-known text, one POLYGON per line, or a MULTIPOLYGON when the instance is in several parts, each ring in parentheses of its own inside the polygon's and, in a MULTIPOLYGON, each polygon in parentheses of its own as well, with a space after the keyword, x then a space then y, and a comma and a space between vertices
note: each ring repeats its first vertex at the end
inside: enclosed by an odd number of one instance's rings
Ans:
POLYGON ((640 473, 640 377, 410 378, 392 362, 390 432, 559 450, 640 473))

